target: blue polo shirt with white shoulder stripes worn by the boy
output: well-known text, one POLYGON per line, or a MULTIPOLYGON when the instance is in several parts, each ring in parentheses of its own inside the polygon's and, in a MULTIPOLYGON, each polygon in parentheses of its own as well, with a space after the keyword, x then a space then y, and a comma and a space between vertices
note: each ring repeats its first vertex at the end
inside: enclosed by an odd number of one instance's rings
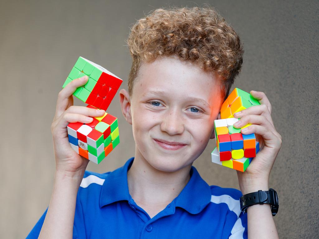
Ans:
MULTIPOLYGON (((150 218, 129 193, 127 171, 133 160, 104 174, 85 171, 77 194, 73 238, 247 238, 241 192, 209 186, 194 166, 182 192, 150 218)), ((38 238, 46 212, 27 239, 38 238)))

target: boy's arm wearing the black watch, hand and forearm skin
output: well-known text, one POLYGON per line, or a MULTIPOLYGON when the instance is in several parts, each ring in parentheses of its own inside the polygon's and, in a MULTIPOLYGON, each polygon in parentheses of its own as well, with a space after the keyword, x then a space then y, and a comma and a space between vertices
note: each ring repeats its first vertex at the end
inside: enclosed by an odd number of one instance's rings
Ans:
MULTIPOLYGON (((259 100, 261 105, 252 106, 235 113, 241 118, 234 124, 241 128, 247 124, 251 126, 241 130, 242 134, 256 134, 261 150, 251 161, 245 172, 237 171, 238 182, 242 194, 268 191, 268 179, 272 166, 281 147, 281 135, 274 127, 271 118, 271 104, 263 92, 251 91, 250 94, 259 100)), ((248 238, 278 238, 276 225, 268 204, 254 205, 247 208, 248 238)))

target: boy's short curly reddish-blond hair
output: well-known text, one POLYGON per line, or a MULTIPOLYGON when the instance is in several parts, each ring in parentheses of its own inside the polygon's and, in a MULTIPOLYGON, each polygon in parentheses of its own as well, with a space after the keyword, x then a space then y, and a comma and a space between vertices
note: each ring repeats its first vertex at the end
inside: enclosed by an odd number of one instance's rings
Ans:
POLYGON ((226 98, 244 53, 237 33, 211 7, 156 9, 133 25, 126 43, 133 58, 130 96, 141 62, 177 55, 218 76, 226 98))

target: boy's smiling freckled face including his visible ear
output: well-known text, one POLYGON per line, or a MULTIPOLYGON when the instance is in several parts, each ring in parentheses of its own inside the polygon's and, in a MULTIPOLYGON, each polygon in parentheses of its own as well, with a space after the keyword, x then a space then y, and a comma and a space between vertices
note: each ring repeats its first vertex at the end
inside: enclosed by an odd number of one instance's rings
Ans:
POLYGON ((136 156, 157 170, 177 171, 193 163, 214 134, 220 84, 198 66, 163 57, 143 62, 128 102, 122 111, 133 127, 136 156))

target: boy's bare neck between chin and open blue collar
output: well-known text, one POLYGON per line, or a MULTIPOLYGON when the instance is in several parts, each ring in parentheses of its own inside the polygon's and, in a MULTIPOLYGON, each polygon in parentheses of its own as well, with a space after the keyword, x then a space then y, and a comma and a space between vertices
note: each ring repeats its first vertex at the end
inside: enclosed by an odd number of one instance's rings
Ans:
POLYGON ((130 195, 142 208, 167 206, 188 183, 191 166, 190 164, 175 172, 160 171, 153 168, 139 150, 136 150, 127 173, 130 195))

